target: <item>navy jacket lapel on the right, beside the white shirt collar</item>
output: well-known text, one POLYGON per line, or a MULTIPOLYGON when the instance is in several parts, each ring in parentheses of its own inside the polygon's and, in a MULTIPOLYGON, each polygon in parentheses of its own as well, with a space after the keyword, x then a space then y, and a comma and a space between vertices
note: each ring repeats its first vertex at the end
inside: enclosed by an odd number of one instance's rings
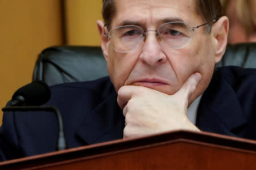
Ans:
POLYGON ((197 127, 212 133, 234 135, 232 130, 246 122, 236 92, 218 73, 214 74, 200 101, 197 127))

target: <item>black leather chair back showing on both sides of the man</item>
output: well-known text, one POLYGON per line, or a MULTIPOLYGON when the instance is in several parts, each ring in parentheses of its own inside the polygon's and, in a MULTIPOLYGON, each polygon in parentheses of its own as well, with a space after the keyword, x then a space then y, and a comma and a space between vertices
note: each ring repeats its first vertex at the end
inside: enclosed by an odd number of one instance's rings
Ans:
MULTIPOLYGON (((256 68, 256 43, 228 45, 217 67, 229 65, 256 68)), ((33 80, 43 80, 51 86, 106 75, 106 61, 100 47, 53 46, 39 54, 33 80)))

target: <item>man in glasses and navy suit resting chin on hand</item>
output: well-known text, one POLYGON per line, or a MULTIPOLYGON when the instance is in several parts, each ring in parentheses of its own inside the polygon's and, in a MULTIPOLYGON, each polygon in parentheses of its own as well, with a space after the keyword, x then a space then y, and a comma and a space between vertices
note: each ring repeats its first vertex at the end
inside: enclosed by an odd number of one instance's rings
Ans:
MULTIPOLYGON (((105 0, 103 16, 111 81, 51 87, 69 148, 179 129, 255 139, 255 70, 214 73, 229 29, 218 0, 105 0)), ((5 113, 2 160, 54 151, 56 136, 50 113, 5 113)))

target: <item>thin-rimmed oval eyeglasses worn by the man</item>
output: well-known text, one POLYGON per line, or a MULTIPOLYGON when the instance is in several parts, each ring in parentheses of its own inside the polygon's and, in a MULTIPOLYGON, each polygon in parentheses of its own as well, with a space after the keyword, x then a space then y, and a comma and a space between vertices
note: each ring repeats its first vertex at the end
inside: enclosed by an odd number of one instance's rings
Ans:
MULTIPOLYGON (((214 19, 209 23, 215 23, 217 20, 214 19)), ((109 33, 105 32, 106 25, 104 25, 104 34, 108 37, 110 46, 121 53, 129 53, 141 49, 146 32, 150 31, 155 32, 162 48, 181 49, 190 44, 196 28, 209 23, 192 27, 186 22, 170 22, 160 25, 156 30, 143 30, 137 25, 124 25, 111 29, 109 33)))

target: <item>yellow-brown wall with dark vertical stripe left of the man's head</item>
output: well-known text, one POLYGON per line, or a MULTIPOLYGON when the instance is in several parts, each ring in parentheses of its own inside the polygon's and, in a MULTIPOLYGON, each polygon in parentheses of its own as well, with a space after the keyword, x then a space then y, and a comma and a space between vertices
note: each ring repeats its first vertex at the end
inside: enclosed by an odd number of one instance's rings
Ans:
MULTIPOLYGON (((52 45, 100 45, 102 0, 0 0, 0 107, 32 81, 38 54, 52 45)), ((0 125, 2 111, 0 111, 0 125)))

